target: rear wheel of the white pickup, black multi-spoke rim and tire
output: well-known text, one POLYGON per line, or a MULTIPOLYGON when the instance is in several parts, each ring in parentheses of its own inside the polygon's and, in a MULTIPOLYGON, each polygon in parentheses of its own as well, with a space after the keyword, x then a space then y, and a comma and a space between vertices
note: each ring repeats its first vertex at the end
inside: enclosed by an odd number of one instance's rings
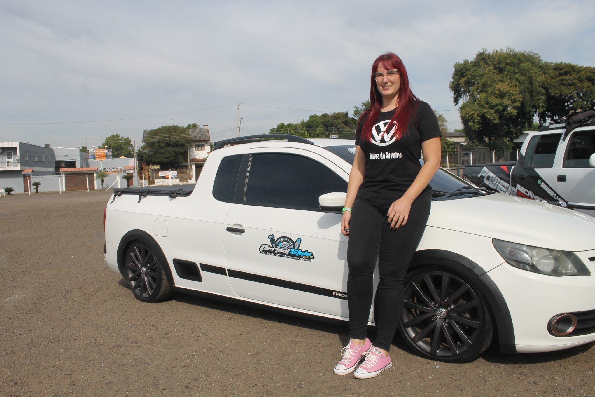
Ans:
POLYGON ((142 241, 134 241, 126 249, 124 277, 139 301, 158 302, 171 295, 162 264, 154 250, 142 241))

